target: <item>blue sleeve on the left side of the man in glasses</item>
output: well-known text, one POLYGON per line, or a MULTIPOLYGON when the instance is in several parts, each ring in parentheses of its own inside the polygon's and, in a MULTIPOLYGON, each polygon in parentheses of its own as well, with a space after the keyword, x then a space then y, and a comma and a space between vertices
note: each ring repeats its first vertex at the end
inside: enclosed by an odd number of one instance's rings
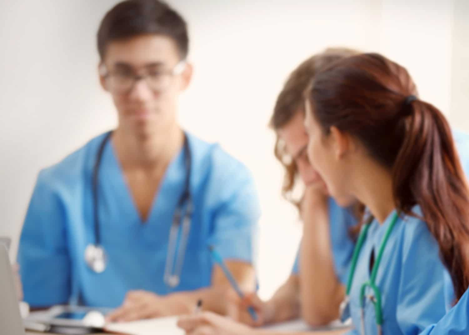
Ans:
POLYGON ((65 215, 59 195, 43 172, 23 223, 18 262, 26 302, 33 307, 68 302, 71 284, 65 215))

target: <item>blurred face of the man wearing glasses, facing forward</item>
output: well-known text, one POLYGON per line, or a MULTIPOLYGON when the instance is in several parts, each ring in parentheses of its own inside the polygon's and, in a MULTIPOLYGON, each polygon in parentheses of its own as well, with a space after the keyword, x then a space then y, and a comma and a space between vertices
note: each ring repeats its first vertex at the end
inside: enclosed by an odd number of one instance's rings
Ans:
POLYGON ((119 127, 145 137, 176 122, 179 93, 190 82, 170 37, 142 35, 110 42, 100 80, 113 97, 119 127))

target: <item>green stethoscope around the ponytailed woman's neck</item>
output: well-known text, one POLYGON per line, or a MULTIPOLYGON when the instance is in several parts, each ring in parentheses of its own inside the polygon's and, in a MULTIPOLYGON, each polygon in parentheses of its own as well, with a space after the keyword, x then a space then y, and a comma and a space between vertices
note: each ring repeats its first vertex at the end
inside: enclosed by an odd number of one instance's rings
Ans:
MULTIPOLYGON (((376 258, 375 263, 373 264, 373 268, 371 269, 371 277, 370 280, 363 283, 360 289, 360 321, 361 321, 361 334, 365 335, 365 290, 369 287, 373 291, 373 295, 370 295, 368 298, 370 299, 371 303, 375 308, 375 316, 376 316, 376 325, 378 327, 378 334, 382 334, 382 326, 383 326, 383 311, 381 306, 381 292, 378 289, 378 286, 375 284, 376 275, 378 274, 379 263, 381 262, 381 258, 384 253, 384 249, 386 248, 387 240, 391 235, 391 231, 397 222, 397 218, 399 214, 396 212, 394 213, 393 219, 389 224, 389 227, 386 230, 385 236, 381 241, 381 245, 379 246, 378 257, 376 258)), ((368 229, 370 228, 371 222, 373 221, 373 217, 371 216, 365 223, 358 236, 358 241, 356 243, 353 256, 352 256, 352 263, 350 265, 350 272, 348 274, 348 282, 347 282, 347 292, 344 298, 344 301, 340 304, 340 320, 345 321, 350 317, 350 289, 353 283, 353 277, 355 275, 355 268, 356 263, 358 261, 358 256, 360 255, 360 251, 362 250, 363 243, 365 242, 366 235, 368 233, 368 229)))

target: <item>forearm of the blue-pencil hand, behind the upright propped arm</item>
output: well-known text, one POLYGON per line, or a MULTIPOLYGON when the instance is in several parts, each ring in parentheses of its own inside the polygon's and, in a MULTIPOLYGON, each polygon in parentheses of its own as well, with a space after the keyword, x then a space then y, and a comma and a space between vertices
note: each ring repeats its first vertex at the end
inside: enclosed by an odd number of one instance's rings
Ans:
POLYGON ((297 275, 290 275, 274 293, 266 304, 268 310, 273 311, 269 323, 277 323, 296 319, 300 316, 299 279, 297 275))

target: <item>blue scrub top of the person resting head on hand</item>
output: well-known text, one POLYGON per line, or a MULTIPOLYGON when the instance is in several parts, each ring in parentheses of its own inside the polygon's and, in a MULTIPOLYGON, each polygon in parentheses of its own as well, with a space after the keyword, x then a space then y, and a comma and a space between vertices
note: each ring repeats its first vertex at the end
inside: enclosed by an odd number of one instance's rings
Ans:
MULTIPOLYGON (((329 198, 329 224, 334 269, 341 283, 347 283, 348 268, 352 259, 355 243, 350 238, 350 229, 356 225, 357 219, 351 209, 340 207, 333 198, 329 198)), ((299 272, 299 250, 296 254, 292 273, 299 272)))

